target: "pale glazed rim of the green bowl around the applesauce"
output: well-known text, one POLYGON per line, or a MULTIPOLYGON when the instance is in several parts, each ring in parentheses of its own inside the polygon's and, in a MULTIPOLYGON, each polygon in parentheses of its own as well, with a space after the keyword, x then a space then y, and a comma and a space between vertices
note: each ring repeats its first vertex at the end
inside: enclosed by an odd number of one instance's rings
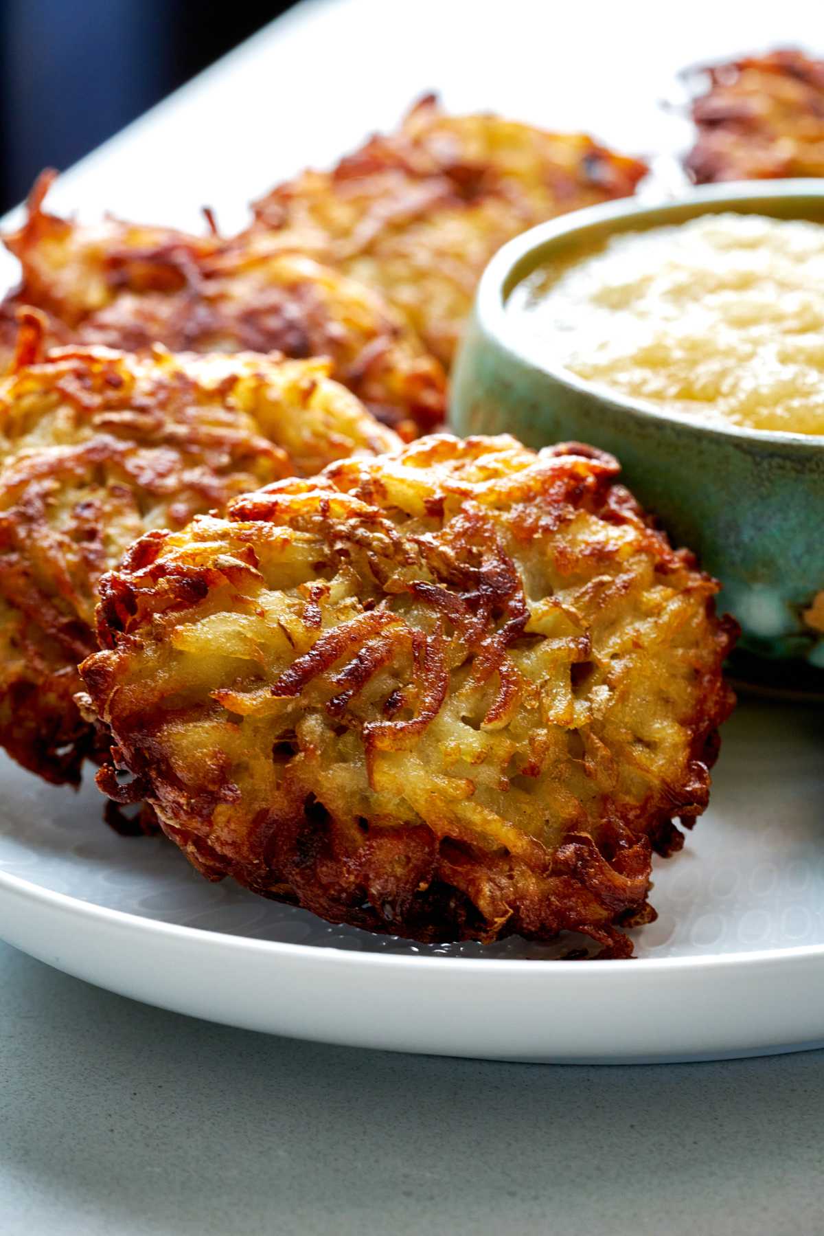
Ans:
MULTIPOLYGON (((573 239, 591 229, 604 224, 637 220, 650 226, 666 226, 667 216, 679 215, 683 210, 696 206, 694 216, 718 214, 725 209, 735 213, 736 205, 746 204, 747 213, 757 213, 759 203, 768 206, 775 201, 801 201, 810 198, 822 203, 824 215, 824 179, 794 178, 784 180, 735 180, 694 188, 677 197, 662 197, 658 200, 639 200, 637 198, 619 198, 584 206, 565 215, 558 215, 546 222, 530 227, 498 250, 487 265, 476 293, 474 315, 482 331, 509 352, 519 365, 546 375, 561 386, 577 394, 588 396, 599 403, 608 403, 628 415, 641 420, 663 421, 686 433, 697 433, 733 442, 752 442, 759 446, 768 444, 801 449, 805 452, 824 451, 823 434, 798 434, 788 430, 750 429, 744 425, 720 425, 692 419, 678 413, 658 409, 634 396, 615 391, 607 383, 589 382, 578 377, 561 363, 553 363, 551 357, 539 357, 531 349, 524 346, 525 331, 518 329, 516 319, 507 311, 507 298, 513 287, 528 273, 528 268, 540 265, 539 251, 549 248, 553 242, 573 239), (752 210, 751 208, 756 209, 752 210), (702 209, 705 208, 705 209, 702 209), (531 260, 535 258, 534 262, 531 260), (519 272, 523 267, 523 272, 519 272)), ((621 230, 633 230, 621 229, 621 230)))

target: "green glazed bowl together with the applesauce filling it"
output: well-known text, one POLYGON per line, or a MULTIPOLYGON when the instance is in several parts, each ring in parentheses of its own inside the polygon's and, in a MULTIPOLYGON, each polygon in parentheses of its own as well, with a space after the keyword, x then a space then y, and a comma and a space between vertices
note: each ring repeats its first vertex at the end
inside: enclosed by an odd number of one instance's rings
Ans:
POLYGON ((824 686, 824 183, 579 210, 487 267, 452 388, 461 434, 615 455, 723 585, 738 671, 824 686))

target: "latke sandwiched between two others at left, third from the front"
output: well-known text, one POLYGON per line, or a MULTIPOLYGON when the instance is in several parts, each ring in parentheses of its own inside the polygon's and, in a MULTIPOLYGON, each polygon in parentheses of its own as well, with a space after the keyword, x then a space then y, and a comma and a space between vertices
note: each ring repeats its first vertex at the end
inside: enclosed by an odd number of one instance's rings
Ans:
MULTIPOLYGON (((378 292, 300 253, 116 219, 80 226, 43 210, 51 180, 41 177, 26 222, 5 237, 22 267, 6 320, 28 304, 49 314, 54 342, 329 356, 332 377, 404 436, 444 420, 441 365, 378 292)), ((7 355, 0 321, 4 341, 7 355)))

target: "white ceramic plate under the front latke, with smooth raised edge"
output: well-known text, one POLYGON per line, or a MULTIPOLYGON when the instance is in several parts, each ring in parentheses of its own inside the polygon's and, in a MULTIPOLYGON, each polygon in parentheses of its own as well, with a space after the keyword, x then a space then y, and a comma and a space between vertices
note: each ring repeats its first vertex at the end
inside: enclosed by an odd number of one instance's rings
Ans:
POLYGON ((325 1042, 524 1060, 672 1060, 824 1044, 820 709, 749 701, 713 806, 656 868, 637 960, 553 960, 520 939, 425 947, 330 927, 79 794, 0 768, 0 936, 179 1012, 325 1042))

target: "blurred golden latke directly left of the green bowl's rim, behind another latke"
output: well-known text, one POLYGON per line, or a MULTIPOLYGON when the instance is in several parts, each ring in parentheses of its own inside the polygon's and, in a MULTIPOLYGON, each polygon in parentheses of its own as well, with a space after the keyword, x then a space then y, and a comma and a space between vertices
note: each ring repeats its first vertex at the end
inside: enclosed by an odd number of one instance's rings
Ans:
POLYGON ((646 171, 583 133, 448 116, 427 96, 334 172, 304 172, 256 203, 258 245, 311 253, 379 288, 450 365, 495 250, 545 219, 634 193, 646 171))

